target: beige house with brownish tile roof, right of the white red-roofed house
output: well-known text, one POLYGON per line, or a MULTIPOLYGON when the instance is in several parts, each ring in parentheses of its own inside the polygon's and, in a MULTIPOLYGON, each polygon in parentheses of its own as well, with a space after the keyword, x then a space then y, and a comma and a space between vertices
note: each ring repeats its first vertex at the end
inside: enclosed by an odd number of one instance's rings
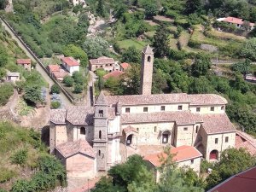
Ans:
POLYGON ((89 60, 89 70, 95 72, 96 69, 102 68, 105 71, 112 72, 114 70, 115 62, 113 58, 102 56, 97 59, 89 60))

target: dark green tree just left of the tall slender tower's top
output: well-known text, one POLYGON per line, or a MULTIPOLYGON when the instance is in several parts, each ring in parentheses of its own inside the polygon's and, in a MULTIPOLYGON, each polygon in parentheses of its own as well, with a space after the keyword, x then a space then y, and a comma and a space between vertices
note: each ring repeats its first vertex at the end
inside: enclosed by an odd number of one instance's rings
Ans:
POLYGON ((122 53, 122 61, 139 63, 141 61, 141 53, 135 46, 129 47, 122 53))

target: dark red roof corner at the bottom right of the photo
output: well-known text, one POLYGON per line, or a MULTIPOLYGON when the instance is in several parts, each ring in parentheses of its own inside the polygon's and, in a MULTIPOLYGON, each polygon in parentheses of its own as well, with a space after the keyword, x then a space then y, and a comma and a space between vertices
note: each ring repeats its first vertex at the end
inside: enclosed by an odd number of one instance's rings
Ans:
POLYGON ((219 183, 208 192, 255 192, 256 191, 256 166, 241 172, 219 183))

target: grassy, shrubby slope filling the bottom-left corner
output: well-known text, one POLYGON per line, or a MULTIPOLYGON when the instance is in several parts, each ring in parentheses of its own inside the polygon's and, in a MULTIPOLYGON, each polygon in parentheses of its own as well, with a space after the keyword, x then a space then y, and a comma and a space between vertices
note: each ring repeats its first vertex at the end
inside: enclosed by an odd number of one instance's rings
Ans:
POLYGON ((61 162, 50 156, 40 133, 0 122, 0 189, 45 191, 66 184, 61 162))

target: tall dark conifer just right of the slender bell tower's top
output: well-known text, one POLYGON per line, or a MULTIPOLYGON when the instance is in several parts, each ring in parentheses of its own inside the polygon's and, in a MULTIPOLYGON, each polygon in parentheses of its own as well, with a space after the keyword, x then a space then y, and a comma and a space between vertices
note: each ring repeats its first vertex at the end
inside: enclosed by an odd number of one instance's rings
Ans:
POLYGON ((154 55, 156 57, 166 56, 169 49, 168 31, 165 25, 158 27, 153 38, 154 55))

